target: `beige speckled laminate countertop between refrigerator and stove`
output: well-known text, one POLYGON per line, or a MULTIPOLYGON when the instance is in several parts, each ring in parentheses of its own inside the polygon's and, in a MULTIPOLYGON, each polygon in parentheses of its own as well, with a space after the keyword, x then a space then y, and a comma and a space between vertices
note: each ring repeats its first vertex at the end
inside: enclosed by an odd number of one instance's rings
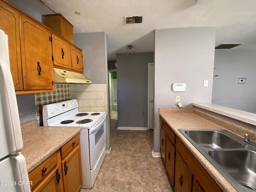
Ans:
POLYGON ((21 124, 28 173, 80 132, 79 127, 42 127, 37 120, 21 124))

